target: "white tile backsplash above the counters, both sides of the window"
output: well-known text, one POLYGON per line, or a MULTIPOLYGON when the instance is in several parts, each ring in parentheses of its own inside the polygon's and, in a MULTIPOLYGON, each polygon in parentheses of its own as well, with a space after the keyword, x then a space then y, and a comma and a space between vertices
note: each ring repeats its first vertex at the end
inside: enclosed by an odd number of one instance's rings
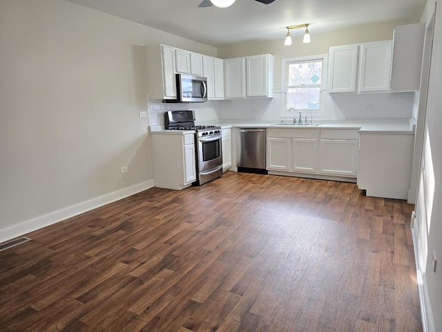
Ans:
MULTIPOLYGON (((325 95, 323 114, 313 118, 323 120, 405 119, 412 118, 418 93, 367 93, 325 95)), ((148 101, 148 118, 152 127, 164 126, 164 113, 172 110, 194 110, 197 124, 213 124, 222 120, 253 120, 274 122, 287 120, 281 116, 284 94, 274 98, 242 100, 209 100, 203 103, 166 104, 148 101)))

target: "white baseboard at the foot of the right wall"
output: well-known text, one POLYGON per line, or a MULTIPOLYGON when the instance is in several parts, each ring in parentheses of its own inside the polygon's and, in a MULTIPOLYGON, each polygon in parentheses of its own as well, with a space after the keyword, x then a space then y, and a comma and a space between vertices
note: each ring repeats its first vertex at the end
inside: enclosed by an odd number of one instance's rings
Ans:
POLYGON ((412 238, 414 247, 414 260, 416 261, 416 275, 419 289, 419 302, 421 304, 422 328, 423 332, 436 332, 434 330, 434 320, 430 304, 430 297, 428 296, 427 280, 425 273, 419 264, 419 248, 415 228, 412 228, 412 238))

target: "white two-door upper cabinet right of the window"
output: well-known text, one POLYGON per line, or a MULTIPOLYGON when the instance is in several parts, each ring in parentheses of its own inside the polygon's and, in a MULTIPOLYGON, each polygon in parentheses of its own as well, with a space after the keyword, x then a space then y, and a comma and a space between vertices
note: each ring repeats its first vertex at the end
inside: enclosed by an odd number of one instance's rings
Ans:
POLYGON ((390 90, 392 41, 329 48, 329 93, 390 90))

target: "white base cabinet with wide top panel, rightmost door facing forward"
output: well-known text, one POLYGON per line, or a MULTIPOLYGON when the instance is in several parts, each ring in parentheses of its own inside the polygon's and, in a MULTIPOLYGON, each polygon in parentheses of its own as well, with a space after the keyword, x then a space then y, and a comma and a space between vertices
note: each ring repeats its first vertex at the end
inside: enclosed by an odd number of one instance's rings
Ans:
POLYGON ((320 174, 356 177, 358 130, 321 129, 320 174))

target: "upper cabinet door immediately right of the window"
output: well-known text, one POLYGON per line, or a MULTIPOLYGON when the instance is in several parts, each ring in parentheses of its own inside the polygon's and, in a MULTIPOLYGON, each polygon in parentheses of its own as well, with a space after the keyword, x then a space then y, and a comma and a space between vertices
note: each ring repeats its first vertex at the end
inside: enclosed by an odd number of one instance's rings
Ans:
POLYGON ((329 93, 356 93, 358 45, 329 48, 329 93))

